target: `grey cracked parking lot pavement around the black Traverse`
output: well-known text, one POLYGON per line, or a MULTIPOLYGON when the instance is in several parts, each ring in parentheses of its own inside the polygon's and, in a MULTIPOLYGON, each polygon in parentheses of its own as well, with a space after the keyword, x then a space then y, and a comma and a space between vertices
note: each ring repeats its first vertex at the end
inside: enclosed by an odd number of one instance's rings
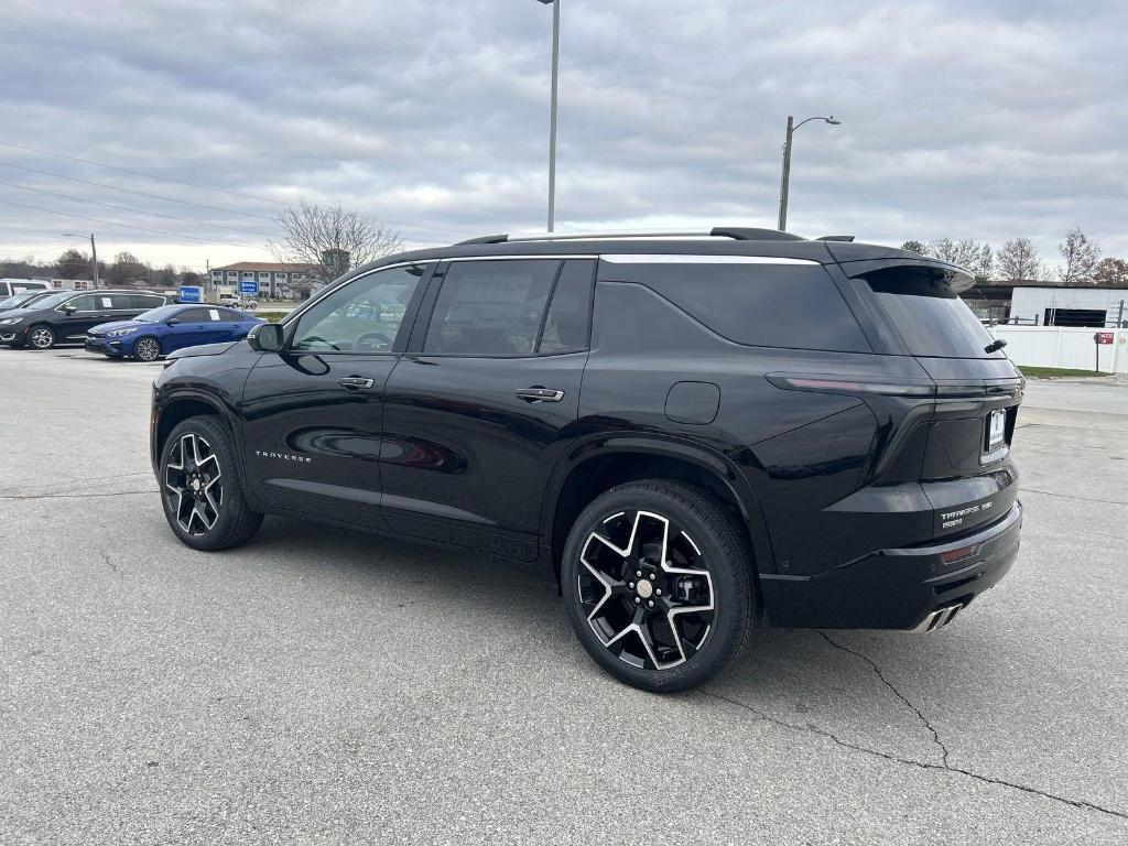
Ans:
POLYGON ((952 626, 766 631, 662 697, 502 562, 183 547, 158 369, 0 350, 2 844, 1128 841, 1123 384, 1030 384, 1022 552, 952 626))

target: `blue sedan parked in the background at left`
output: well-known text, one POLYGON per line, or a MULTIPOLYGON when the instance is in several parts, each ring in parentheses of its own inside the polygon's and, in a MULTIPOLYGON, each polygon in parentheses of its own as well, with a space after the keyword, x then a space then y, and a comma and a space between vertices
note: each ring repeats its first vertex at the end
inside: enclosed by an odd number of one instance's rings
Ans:
POLYGON ((132 320, 95 326, 86 335, 86 349, 112 359, 152 361, 185 346, 239 341, 261 323, 266 321, 222 306, 161 306, 132 320))

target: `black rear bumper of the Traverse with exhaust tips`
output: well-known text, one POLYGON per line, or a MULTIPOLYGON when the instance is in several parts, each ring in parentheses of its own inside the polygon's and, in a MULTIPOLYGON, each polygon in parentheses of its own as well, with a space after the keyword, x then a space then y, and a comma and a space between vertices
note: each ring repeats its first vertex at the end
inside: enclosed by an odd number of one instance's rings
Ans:
POLYGON ((812 576, 761 573, 767 620, 800 628, 906 628, 931 631, 1006 575, 1019 554, 1022 505, 957 540, 882 549, 812 576), (971 550, 945 561, 958 550, 971 550))

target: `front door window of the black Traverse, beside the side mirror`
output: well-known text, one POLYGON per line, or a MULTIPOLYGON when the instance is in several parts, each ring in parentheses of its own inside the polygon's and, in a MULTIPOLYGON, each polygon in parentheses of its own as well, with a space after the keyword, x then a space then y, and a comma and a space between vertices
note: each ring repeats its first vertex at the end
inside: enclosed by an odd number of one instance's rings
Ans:
POLYGON ((391 267, 347 282, 298 318, 290 347, 303 352, 391 352, 425 270, 422 264, 391 267))

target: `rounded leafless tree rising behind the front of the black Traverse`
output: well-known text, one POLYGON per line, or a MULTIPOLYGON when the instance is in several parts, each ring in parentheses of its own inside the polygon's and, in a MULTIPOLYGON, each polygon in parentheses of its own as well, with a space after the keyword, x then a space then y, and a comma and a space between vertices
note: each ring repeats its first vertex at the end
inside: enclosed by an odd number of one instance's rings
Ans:
POLYGON ((316 282, 331 282, 350 267, 403 248, 399 232, 340 205, 300 203, 279 214, 282 238, 267 246, 277 261, 301 265, 316 282))

